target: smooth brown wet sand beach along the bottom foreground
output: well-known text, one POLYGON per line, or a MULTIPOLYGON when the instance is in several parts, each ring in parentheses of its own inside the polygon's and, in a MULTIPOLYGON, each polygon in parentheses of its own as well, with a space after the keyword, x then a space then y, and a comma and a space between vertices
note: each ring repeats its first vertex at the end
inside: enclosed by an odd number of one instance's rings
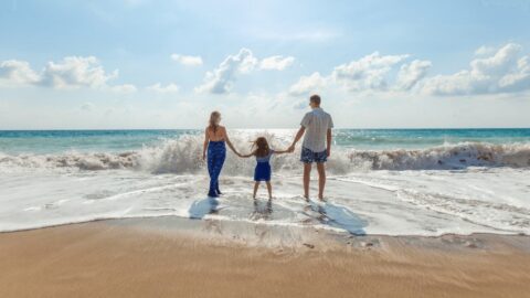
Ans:
POLYGON ((529 236, 102 221, 0 233, 0 297, 528 297, 529 247, 529 236))

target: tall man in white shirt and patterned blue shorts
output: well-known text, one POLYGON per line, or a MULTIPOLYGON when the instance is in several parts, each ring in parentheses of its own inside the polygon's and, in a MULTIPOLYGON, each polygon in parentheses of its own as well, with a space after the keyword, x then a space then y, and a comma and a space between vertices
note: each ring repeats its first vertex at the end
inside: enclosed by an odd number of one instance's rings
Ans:
POLYGON ((304 198, 309 200, 309 180, 311 177, 311 164, 317 163, 318 170, 318 199, 324 201, 324 187, 326 185, 325 162, 331 153, 331 128, 333 120, 331 116, 320 108, 320 96, 312 95, 309 98, 311 111, 301 119, 301 127, 296 134, 289 151, 295 150, 296 143, 304 136, 300 161, 304 162, 304 198))

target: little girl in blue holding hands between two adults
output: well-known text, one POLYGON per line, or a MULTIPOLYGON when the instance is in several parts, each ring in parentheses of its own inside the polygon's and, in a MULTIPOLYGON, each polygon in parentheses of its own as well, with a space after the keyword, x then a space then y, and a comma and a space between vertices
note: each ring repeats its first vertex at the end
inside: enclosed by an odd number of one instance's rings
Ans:
POLYGON ((288 150, 272 150, 268 147, 267 139, 264 137, 257 138, 252 145, 252 149, 256 148, 250 155, 239 155, 242 158, 250 158, 252 156, 256 157, 256 169, 254 170, 254 199, 256 199, 257 188, 259 187, 261 181, 265 181, 267 184, 268 199, 273 199, 273 187, 271 185, 271 157, 273 155, 287 153, 288 150))

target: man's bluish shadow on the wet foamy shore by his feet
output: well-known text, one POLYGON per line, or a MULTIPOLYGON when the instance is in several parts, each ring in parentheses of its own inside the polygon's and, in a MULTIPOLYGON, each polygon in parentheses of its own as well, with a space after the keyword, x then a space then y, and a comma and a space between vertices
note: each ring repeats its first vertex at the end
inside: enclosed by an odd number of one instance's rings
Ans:
POLYGON ((352 235, 363 236, 367 234, 364 227, 368 226, 368 221, 361 219, 344 206, 329 202, 324 204, 311 202, 306 206, 305 213, 306 215, 316 219, 321 224, 346 230, 352 235), (308 214, 308 211, 315 212, 316 215, 308 214))

